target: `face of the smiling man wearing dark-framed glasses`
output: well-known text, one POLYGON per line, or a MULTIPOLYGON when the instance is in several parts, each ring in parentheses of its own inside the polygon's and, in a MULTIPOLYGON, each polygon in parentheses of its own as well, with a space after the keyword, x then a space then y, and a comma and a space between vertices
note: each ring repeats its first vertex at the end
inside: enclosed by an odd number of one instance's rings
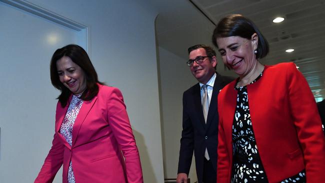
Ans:
MULTIPOLYGON (((207 56, 204 48, 194 49, 189 53, 189 59, 195 59, 199 56, 207 56)), ((190 71, 194 77, 201 83, 205 84, 213 73, 215 72, 214 67, 216 66, 215 56, 208 58, 205 57, 201 63, 193 62, 193 65, 190 66, 190 71)))

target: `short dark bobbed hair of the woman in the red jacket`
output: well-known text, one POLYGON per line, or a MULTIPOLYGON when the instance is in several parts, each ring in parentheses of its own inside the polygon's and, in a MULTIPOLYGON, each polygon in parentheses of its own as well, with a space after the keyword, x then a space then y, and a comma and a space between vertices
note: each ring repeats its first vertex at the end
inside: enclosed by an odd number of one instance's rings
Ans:
POLYGON ((250 39, 254 33, 258 36, 256 58, 262 58, 268 53, 268 42, 257 26, 241 14, 230 14, 221 18, 213 31, 212 42, 218 47, 216 43, 218 37, 240 36, 250 39))

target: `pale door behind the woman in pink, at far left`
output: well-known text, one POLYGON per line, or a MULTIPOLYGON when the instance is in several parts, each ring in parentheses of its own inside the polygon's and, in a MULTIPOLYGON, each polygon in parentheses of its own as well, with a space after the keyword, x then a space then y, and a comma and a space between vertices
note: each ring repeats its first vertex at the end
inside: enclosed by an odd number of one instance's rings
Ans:
POLYGON ((85 32, 0 2, 0 182, 36 177, 51 146, 59 94, 50 58, 69 43, 85 48, 85 32))

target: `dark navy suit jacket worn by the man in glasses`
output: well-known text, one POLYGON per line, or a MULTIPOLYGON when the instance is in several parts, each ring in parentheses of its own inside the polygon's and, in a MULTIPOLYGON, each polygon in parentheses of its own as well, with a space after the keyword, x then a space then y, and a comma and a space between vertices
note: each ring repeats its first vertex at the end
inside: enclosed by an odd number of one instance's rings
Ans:
POLYGON ((205 124, 199 83, 183 93, 183 130, 181 132, 178 160, 178 173, 188 175, 193 150, 195 155, 196 174, 198 182, 202 182, 204 151, 207 151, 216 172, 218 113, 217 95, 219 90, 232 81, 233 78, 216 73, 211 101, 205 124))

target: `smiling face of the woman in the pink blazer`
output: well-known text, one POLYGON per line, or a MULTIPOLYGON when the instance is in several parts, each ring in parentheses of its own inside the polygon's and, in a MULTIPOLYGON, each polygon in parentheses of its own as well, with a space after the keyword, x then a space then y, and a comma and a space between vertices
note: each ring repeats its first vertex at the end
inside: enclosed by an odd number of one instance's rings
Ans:
POLYGON ((72 93, 80 94, 86 88, 85 74, 70 57, 63 56, 56 61, 57 74, 62 84, 72 93))

